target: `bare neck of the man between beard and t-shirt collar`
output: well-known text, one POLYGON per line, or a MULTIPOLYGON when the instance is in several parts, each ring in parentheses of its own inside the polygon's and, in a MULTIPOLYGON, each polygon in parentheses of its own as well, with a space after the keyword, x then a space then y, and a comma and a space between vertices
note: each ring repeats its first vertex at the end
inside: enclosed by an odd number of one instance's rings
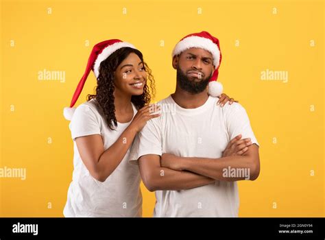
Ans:
POLYGON ((175 93, 171 94, 173 100, 182 108, 198 108, 205 104, 208 100, 208 93, 202 91, 202 93, 189 93, 184 91, 178 85, 176 85, 175 93))

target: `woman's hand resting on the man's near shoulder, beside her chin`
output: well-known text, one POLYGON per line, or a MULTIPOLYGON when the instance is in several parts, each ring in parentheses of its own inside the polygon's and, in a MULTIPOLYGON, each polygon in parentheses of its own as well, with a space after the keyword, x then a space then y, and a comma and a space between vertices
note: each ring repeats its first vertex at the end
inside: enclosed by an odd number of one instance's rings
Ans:
POLYGON ((133 128, 136 132, 140 132, 148 120, 160 116, 160 114, 154 114, 154 112, 158 112, 159 110, 160 107, 156 104, 144 106, 138 112, 136 112, 136 115, 130 123, 130 128, 133 128))

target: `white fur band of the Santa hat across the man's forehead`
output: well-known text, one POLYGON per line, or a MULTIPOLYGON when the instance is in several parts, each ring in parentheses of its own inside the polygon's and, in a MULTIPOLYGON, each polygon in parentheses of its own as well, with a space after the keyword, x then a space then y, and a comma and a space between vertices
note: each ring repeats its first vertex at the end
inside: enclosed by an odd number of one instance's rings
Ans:
POLYGON ((220 50, 218 45, 213 43, 212 40, 200 36, 189 36, 181 40, 173 49, 172 57, 192 47, 198 47, 205 49, 206 51, 210 51, 210 53, 213 55, 213 65, 215 65, 216 68, 219 67, 220 50))

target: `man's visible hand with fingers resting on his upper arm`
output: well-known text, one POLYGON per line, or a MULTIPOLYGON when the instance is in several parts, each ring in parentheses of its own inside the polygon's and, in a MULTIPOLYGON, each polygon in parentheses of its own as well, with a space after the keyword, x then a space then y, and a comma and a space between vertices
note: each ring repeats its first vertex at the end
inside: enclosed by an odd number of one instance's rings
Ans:
POLYGON ((228 143, 226 149, 222 153, 222 157, 241 156, 248 150, 250 145, 252 145, 250 139, 241 139, 241 134, 239 134, 228 143))

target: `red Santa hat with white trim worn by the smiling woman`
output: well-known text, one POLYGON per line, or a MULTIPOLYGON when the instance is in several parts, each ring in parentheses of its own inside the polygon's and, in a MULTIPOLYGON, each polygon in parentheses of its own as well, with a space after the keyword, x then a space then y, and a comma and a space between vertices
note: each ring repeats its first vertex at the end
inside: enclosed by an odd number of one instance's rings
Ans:
POLYGON ((98 79, 99 67, 101 62, 106 60, 106 58, 108 58, 110 54, 117 51, 117 49, 121 49, 122 47, 131 47, 135 49, 132 44, 122 42, 119 39, 105 40, 101 43, 97 43, 97 45, 93 47, 93 50, 91 51, 91 56, 89 56, 88 58, 88 64, 86 70, 84 71, 84 75, 82 76, 77 88, 75 89, 75 93, 73 94, 70 107, 64 108, 63 110, 63 115, 65 119, 72 119, 73 112, 75 112, 75 108, 73 108, 73 106, 75 105, 75 102, 77 101, 80 93, 82 92, 82 88, 84 88, 84 84, 91 70, 93 70, 93 72, 95 73, 95 77, 98 79))

